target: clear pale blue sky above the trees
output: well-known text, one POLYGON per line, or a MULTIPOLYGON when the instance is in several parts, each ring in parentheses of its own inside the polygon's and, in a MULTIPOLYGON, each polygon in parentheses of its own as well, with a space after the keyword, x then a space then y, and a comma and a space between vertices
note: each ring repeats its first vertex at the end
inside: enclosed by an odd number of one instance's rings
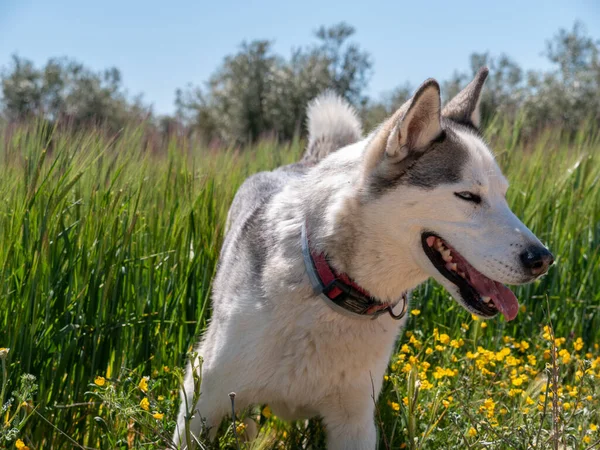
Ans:
POLYGON ((344 20, 373 56, 368 93, 377 97, 465 70, 473 51, 545 68, 545 40, 577 19, 600 38, 597 0, 0 0, 0 67, 13 53, 39 65, 70 56, 96 70, 116 66, 131 95, 169 113, 175 89, 206 81, 243 40, 271 39, 287 56, 320 25, 344 20))

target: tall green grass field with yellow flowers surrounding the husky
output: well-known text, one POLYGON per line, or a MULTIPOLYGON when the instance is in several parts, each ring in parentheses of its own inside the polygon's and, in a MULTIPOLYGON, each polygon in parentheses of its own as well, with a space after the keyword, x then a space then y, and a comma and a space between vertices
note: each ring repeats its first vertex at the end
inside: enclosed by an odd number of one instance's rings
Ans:
MULTIPOLYGON (((473 320, 434 283, 418 290, 378 403, 380 448, 594 448, 600 130, 524 142, 519 123, 498 120, 486 137, 509 203, 556 264, 516 289, 510 323, 473 320)), ((144 127, 0 127, 0 448, 164 448, 228 205, 248 175, 301 151, 207 148, 144 127)), ((263 406, 248 413, 259 438, 241 446, 320 448, 318 422, 263 406)), ((220 440, 235 448, 226 424, 220 440)))

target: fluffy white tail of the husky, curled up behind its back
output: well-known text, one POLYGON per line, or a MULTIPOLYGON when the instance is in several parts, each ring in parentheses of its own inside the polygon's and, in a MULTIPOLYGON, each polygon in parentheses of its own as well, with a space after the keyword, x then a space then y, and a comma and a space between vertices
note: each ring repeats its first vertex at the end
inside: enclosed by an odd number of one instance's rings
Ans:
POLYGON ((358 142, 362 126, 354 107, 333 91, 308 104, 308 146, 303 162, 316 163, 330 153, 358 142))

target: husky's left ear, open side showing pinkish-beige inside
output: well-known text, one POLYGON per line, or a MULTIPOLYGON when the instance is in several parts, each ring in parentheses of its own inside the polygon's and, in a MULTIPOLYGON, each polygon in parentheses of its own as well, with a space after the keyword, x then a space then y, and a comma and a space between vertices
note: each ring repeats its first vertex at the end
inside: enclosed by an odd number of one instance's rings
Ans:
POLYGON ((400 161, 410 152, 427 147, 442 132, 440 110, 440 85, 430 78, 394 115, 397 118, 387 138, 385 156, 400 161))

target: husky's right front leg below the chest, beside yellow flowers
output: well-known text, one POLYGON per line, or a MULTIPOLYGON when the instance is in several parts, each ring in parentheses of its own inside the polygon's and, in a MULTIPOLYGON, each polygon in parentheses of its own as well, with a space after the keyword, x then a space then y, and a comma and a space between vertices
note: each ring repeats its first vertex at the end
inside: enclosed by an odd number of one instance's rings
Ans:
POLYGON ((336 406, 338 408, 321 413, 327 428, 327 449, 375 450, 377 431, 373 399, 336 406))

